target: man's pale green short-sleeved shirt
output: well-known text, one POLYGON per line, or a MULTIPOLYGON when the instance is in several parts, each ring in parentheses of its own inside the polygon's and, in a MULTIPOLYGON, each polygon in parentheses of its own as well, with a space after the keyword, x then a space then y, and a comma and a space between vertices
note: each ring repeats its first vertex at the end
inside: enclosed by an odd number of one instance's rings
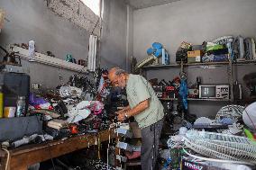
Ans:
POLYGON ((134 116, 141 129, 149 127, 163 118, 163 106, 151 84, 143 76, 129 75, 126 94, 131 108, 149 99, 150 107, 134 116))

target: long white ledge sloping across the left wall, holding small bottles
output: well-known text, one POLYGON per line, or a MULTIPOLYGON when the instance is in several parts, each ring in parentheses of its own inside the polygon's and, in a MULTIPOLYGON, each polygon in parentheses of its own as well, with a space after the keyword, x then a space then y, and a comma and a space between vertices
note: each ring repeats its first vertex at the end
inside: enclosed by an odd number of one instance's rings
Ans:
POLYGON ((68 69, 71 71, 77 71, 77 72, 87 72, 87 67, 80 66, 75 63, 70 63, 68 61, 65 61, 64 59, 59 59, 59 58, 53 58, 50 56, 47 56, 45 54, 41 54, 36 52, 34 58, 31 58, 29 56, 29 50, 28 49, 23 49, 17 46, 14 46, 13 49, 14 52, 19 52, 19 56, 23 59, 41 63, 44 65, 52 66, 52 67, 59 67, 63 69, 68 69))

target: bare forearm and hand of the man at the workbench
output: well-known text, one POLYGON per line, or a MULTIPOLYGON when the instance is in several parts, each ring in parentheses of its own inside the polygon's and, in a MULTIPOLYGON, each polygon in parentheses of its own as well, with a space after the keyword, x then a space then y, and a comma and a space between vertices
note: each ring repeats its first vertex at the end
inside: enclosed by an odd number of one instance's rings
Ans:
POLYGON ((140 112, 145 111, 149 107, 150 107, 149 99, 144 100, 143 102, 133 107, 133 109, 130 109, 129 111, 120 112, 118 115, 118 121, 124 121, 126 119, 125 113, 128 116, 128 118, 130 118, 136 114, 139 114, 140 112))

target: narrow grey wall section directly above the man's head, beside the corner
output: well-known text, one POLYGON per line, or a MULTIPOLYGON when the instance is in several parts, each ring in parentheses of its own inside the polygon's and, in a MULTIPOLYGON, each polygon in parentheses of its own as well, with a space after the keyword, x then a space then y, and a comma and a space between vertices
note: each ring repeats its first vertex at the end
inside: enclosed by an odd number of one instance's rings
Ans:
POLYGON ((100 64, 102 67, 126 66, 126 4, 121 0, 105 0, 100 64))

